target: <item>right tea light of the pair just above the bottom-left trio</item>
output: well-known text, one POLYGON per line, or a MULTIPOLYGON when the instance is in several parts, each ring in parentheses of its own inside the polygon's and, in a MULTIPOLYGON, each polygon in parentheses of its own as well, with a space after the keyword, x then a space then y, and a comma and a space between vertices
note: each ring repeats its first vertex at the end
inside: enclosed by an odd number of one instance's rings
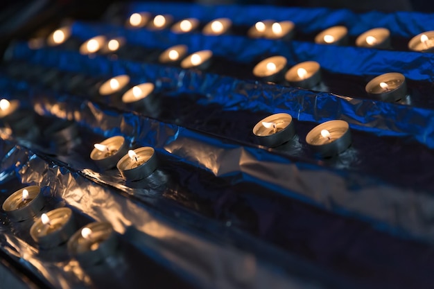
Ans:
POLYGON ((128 181, 144 179, 157 168, 155 150, 148 146, 128 150, 128 154, 118 161, 116 167, 128 181))

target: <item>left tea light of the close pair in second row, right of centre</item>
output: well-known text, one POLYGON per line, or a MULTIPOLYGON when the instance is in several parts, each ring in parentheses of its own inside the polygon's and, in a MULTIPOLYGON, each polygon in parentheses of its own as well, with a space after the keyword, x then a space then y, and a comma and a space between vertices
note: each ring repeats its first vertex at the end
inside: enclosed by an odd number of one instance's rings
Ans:
POLYGON ((272 56, 259 62, 253 68, 254 76, 265 81, 279 82, 286 72, 286 58, 284 56, 272 56))

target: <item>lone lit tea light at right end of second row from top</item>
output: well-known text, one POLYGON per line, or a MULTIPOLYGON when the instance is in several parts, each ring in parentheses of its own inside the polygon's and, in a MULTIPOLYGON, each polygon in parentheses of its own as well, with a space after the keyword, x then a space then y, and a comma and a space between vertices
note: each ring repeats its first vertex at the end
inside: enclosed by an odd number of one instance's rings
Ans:
POLYGON ((368 82, 365 90, 374 99, 397 101, 407 94, 406 77, 397 72, 385 73, 368 82))

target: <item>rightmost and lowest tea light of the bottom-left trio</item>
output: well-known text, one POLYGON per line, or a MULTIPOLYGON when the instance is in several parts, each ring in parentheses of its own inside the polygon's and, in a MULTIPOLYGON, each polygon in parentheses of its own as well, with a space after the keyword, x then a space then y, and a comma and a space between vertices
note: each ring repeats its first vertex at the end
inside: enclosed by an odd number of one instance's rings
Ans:
POLYGON ((109 222, 92 222, 76 231, 68 241, 68 252, 80 265, 87 267, 116 252, 118 238, 109 222))

